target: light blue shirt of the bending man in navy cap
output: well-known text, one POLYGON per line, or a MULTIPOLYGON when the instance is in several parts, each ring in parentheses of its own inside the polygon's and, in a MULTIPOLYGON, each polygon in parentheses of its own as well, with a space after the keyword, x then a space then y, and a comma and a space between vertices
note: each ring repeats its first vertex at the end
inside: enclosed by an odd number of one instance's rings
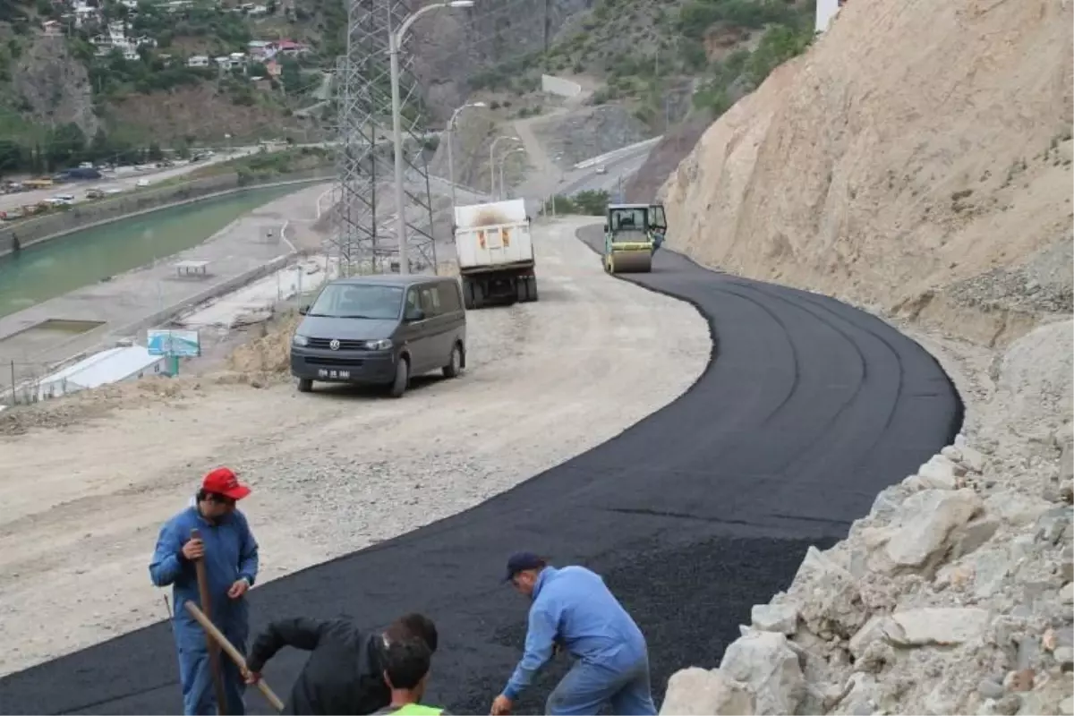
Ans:
POLYGON ((552 657, 558 640, 576 659, 621 671, 647 656, 645 638, 599 574, 546 567, 534 585, 525 654, 504 696, 516 700, 552 657))

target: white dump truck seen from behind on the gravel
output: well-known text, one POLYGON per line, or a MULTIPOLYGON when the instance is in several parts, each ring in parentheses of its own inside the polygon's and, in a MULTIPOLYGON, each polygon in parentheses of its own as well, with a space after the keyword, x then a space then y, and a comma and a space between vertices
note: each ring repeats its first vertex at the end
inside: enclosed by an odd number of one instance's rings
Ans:
POLYGON ((529 223, 522 199, 455 207, 455 253, 466 308, 537 301, 529 223))

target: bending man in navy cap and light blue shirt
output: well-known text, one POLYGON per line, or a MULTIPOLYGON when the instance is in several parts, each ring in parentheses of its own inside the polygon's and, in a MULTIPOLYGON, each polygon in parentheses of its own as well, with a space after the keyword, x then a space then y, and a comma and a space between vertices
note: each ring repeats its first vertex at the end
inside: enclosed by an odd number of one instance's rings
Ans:
POLYGON ((525 654, 493 701, 492 716, 510 713, 558 642, 577 661, 549 696, 546 716, 596 716, 605 703, 616 716, 656 716, 645 638, 599 574, 584 567, 556 569, 521 552, 508 560, 504 581, 533 603, 525 654))

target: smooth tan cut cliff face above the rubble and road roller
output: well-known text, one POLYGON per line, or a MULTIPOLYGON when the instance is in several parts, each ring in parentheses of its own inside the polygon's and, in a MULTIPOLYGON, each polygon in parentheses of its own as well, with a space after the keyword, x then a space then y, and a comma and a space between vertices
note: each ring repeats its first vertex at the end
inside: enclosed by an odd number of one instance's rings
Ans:
POLYGON ((983 342, 1074 310, 1072 36, 1064 0, 847 3, 664 185, 669 245, 983 342))

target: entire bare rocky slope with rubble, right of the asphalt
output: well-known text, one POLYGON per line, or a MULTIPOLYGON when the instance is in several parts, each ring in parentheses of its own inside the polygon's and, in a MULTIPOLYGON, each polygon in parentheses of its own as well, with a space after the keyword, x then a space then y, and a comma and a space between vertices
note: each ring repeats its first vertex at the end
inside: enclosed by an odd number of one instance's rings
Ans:
POLYGON ((663 187, 671 247, 898 322, 967 424, 662 716, 1074 715, 1072 31, 1064 0, 852 0, 663 187))

